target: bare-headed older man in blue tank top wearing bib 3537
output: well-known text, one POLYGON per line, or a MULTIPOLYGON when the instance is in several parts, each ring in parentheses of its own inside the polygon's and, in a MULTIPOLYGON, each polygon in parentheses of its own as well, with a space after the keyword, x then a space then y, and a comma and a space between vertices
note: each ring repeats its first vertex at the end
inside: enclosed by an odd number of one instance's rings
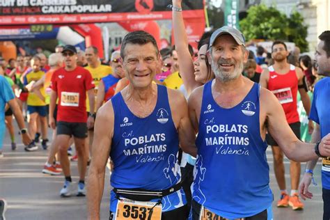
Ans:
POLYGON ((180 92, 152 83, 159 51, 150 34, 128 33, 120 55, 129 85, 97 111, 88 174, 89 217, 100 219, 110 155, 109 219, 185 219, 179 143, 185 152, 197 152, 187 102, 180 92))

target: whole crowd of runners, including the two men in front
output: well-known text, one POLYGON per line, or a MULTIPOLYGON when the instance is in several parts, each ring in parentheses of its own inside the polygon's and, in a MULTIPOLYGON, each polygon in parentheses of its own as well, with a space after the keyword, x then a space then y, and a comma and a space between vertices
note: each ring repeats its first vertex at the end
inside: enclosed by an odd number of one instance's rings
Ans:
POLYGON ((90 219, 100 219, 108 167, 109 219, 254 220, 273 218, 271 146, 277 207, 304 209, 322 157, 323 219, 330 219, 330 31, 319 36, 315 61, 280 40, 254 54, 229 26, 204 33, 195 54, 181 1, 172 9, 175 47, 159 50, 149 33, 134 31, 109 63, 97 47, 72 45, 48 57, 1 59, 0 157, 6 129, 11 150, 17 134, 27 153, 48 150, 40 171, 63 175, 60 196, 87 195, 90 219), (308 162, 303 174, 300 162, 308 162))

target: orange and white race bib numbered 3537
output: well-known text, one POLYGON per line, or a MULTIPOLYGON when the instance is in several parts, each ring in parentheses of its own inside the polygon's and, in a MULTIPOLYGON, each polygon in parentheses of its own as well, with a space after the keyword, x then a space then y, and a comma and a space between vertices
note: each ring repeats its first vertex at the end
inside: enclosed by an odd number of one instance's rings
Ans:
POLYGON ((116 220, 127 219, 162 219, 162 205, 157 202, 140 202, 129 199, 119 199, 116 210, 116 220), (152 208, 153 207, 153 208, 152 208))

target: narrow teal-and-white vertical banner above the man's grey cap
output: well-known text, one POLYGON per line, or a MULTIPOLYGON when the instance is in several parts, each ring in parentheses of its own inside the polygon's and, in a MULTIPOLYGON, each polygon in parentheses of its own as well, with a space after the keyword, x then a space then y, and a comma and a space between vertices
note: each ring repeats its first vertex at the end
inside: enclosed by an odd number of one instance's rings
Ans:
POLYGON ((239 29, 239 0, 225 1, 225 25, 239 29))

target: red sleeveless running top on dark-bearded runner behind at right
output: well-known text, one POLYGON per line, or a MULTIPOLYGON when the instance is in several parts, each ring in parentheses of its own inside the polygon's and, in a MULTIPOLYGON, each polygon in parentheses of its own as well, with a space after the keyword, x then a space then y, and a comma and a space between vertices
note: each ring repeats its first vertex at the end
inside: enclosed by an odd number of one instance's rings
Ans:
POLYGON ((289 124, 299 122, 297 111, 298 78, 296 68, 290 65, 290 71, 278 74, 271 65, 269 70, 268 89, 274 93, 282 104, 286 120, 289 124))

